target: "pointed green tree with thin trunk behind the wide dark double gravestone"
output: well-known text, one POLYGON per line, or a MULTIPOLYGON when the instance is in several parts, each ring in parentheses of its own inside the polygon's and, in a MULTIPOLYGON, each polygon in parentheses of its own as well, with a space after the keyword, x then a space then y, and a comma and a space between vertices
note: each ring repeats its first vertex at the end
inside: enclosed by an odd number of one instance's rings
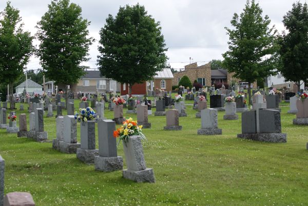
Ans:
POLYGON ((247 1, 243 12, 234 14, 231 25, 225 28, 229 35, 228 51, 223 54, 223 66, 234 76, 248 82, 249 104, 251 83, 259 78, 275 74, 279 49, 274 26, 269 28, 268 16, 262 17, 262 9, 254 0, 247 1))

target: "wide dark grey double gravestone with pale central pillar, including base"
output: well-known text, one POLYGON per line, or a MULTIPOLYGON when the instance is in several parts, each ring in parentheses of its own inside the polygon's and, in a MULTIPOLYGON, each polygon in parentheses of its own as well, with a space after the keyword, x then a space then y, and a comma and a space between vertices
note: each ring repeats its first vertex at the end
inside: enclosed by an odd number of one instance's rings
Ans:
POLYGON ((242 134, 238 138, 265 142, 286 142, 281 133, 280 111, 257 109, 242 113, 242 134))

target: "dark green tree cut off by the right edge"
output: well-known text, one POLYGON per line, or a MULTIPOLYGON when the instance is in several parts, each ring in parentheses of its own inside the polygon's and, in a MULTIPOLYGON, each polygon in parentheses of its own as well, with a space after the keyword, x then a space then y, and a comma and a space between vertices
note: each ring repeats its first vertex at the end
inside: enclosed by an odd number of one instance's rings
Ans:
POLYGON ((279 37, 281 65, 278 68, 285 80, 294 81, 300 90, 300 81, 308 80, 308 8, 307 4, 293 4, 282 20, 288 33, 279 37))

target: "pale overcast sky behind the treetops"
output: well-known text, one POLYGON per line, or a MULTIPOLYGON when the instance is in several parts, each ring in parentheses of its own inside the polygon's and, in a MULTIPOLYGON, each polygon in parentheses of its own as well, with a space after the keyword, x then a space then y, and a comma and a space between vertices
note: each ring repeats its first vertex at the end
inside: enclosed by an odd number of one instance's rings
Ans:
MULTIPOLYGON (((230 27, 234 13, 242 12, 246 0, 146 0, 146 1, 110 1, 110 0, 71 0, 82 7, 82 15, 91 22, 90 36, 97 39, 90 48, 90 61, 84 65, 97 68, 99 54, 99 30, 104 26, 108 14, 117 14, 119 7, 137 3, 144 5, 148 14, 161 23, 167 51, 168 63, 175 69, 184 68, 192 61, 203 65, 211 59, 222 59, 221 54, 227 50, 228 36, 224 27, 230 27)), ((256 1, 272 20, 278 31, 284 30, 282 17, 292 9, 294 0, 260 0, 256 1)), ((304 2, 304 1, 300 1, 304 2)), ((47 0, 11 0, 11 5, 20 10, 25 24, 24 29, 35 34, 34 28, 42 15, 47 12, 47 0)), ((6 6, 0 0, 0 10, 6 6)), ((37 41, 34 41, 38 45, 37 41)), ((41 68, 39 59, 32 57, 28 69, 41 68)))

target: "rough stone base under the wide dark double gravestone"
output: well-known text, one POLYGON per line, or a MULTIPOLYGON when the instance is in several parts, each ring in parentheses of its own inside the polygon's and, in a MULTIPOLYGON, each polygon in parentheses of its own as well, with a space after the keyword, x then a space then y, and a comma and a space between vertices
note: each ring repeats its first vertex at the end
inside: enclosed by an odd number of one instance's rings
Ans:
POLYGON ((254 133, 254 134, 238 134, 238 138, 252 139, 265 142, 286 142, 285 133, 254 133))

